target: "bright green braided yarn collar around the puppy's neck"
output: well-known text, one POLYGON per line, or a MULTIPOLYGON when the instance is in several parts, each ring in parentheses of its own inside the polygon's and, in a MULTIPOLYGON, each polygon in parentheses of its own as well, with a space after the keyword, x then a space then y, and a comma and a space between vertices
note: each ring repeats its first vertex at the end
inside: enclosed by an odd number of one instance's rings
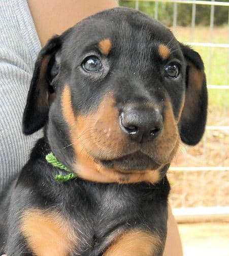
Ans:
POLYGON ((69 173, 67 175, 57 174, 54 176, 55 180, 59 182, 64 182, 64 181, 75 179, 77 177, 75 173, 73 173, 69 168, 67 168, 61 162, 59 162, 52 152, 46 155, 45 159, 52 166, 57 167, 61 170, 66 170, 66 172, 69 173))

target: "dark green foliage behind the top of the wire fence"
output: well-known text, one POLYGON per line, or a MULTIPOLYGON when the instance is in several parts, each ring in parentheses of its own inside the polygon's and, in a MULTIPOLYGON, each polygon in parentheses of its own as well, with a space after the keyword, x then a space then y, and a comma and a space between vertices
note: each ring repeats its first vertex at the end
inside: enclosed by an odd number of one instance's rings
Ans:
MULTIPOLYGON (((227 2, 227 0, 221 0, 220 2, 227 2)), ((120 6, 129 8, 136 8, 136 1, 119 1, 120 6)), ((196 25, 209 25, 211 7, 207 5, 196 5, 196 25)), ((214 12, 214 24, 222 25, 227 23, 228 19, 228 7, 215 6, 214 12)), ((155 17, 155 2, 139 1, 139 10, 148 14, 151 17, 155 17)), ((173 25, 173 3, 160 3, 158 2, 158 20, 167 26, 173 25)), ((190 26, 191 24, 192 5, 190 4, 178 4, 177 5, 177 25, 190 26)))

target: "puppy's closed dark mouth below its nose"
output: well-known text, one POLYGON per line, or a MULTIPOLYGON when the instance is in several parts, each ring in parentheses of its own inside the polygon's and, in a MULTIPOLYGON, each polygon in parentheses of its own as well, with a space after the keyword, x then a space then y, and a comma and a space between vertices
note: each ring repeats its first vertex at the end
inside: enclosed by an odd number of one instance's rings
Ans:
POLYGON ((156 163, 151 157, 140 151, 120 158, 99 161, 104 167, 113 168, 120 173, 132 173, 135 171, 152 170, 160 167, 160 164, 156 163))

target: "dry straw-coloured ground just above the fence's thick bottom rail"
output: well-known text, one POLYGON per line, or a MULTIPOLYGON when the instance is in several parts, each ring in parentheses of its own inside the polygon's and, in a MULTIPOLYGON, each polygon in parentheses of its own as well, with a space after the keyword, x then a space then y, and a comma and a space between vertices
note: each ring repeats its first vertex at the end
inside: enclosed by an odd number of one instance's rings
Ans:
POLYGON ((228 172, 174 172, 168 177, 173 208, 229 205, 228 172))

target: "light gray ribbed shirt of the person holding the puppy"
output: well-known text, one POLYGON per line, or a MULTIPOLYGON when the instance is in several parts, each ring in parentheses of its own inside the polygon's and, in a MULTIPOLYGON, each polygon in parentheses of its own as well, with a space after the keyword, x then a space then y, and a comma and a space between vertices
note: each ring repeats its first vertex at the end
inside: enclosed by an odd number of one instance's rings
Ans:
POLYGON ((21 120, 41 44, 26 0, 0 0, 0 194, 28 159, 41 132, 24 136, 21 120))

